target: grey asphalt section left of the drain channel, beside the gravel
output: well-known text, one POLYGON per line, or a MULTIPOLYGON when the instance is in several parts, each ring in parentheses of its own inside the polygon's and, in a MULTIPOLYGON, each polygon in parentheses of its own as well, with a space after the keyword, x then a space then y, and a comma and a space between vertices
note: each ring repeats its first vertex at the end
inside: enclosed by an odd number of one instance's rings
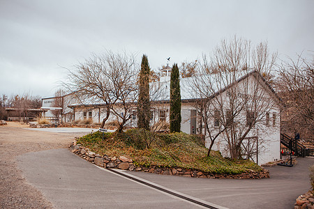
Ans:
POLYGON ((56 208, 198 208, 103 171, 67 149, 27 153, 18 162, 56 208))

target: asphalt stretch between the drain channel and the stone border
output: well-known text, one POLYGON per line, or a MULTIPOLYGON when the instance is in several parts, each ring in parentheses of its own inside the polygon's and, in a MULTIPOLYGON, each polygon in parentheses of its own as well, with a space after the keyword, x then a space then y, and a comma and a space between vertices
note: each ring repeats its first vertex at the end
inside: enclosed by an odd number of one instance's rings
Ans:
POLYGON ((310 185, 308 167, 313 157, 298 158, 294 167, 269 167, 269 179, 204 179, 180 178, 151 173, 133 175, 158 183, 178 192, 195 196, 227 208, 294 208, 295 199, 310 185))

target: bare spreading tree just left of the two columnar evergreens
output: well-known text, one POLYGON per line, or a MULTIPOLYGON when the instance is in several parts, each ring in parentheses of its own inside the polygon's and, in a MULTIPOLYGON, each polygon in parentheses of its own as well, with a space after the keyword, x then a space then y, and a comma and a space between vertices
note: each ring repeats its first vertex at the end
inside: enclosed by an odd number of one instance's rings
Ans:
POLYGON ((103 103, 106 116, 101 127, 113 114, 121 132, 132 115, 137 98, 137 71, 133 54, 107 51, 100 56, 94 54, 84 63, 76 65, 74 70, 68 70, 69 82, 63 85, 81 101, 103 103))

